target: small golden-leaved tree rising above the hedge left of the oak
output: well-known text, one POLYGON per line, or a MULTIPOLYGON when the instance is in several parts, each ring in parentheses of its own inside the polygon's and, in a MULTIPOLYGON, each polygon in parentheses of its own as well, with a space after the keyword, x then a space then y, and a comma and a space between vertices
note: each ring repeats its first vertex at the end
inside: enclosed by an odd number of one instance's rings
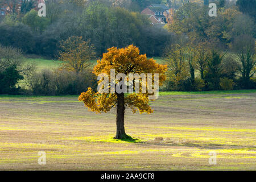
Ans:
POLYGON ((95 48, 90 42, 85 42, 82 37, 72 36, 60 43, 61 49, 59 60, 63 61, 62 69, 82 72, 91 65, 95 56, 95 48))

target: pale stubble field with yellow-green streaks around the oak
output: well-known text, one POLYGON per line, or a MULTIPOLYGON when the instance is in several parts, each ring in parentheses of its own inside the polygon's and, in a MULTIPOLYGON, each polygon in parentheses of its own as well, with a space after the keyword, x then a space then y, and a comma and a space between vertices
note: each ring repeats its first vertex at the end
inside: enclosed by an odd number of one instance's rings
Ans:
POLYGON ((113 139, 115 109, 92 113, 77 96, 0 96, 0 169, 256 169, 256 90, 160 95, 152 114, 126 110, 135 142, 113 139))

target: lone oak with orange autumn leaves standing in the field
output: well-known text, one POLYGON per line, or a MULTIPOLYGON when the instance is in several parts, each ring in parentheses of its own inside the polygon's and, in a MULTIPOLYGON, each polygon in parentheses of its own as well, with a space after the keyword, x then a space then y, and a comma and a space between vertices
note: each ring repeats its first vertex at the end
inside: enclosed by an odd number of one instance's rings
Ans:
MULTIPOLYGON (((93 73, 98 76, 101 73, 105 73, 110 77, 110 69, 115 69, 115 75, 117 73, 124 73, 127 77, 129 73, 138 73, 141 75, 144 73, 158 73, 159 74, 159 85, 162 85, 166 80, 165 72, 167 71, 167 65, 161 65, 156 63, 154 59, 147 59, 146 55, 140 55, 139 49, 133 45, 126 48, 109 48, 107 53, 103 54, 101 60, 97 61, 97 65, 93 69, 93 73)), ((126 78, 127 78, 126 77, 126 78)), ((128 79, 127 79, 128 80, 128 79)), ((154 80, 154 78, 153 78, 154 80)), ((102 80, 98 81, 100 83, 102 80)), ((134 81, 134 80, 133 80, 134 81)), ((113 84, 113 83, 112 83, 113 84)), ((114 82, 114 86, 117 86, 117 81, 114 82)), ((142 86, 140 82, 140 86, 142 86)), ((110 83, 109 83, 110 89, 110 83)), ((117 105, 117 133, 116 139, 129 139, 130 136, 125 133, 124 118, 125 109, 130 107, 135 113, 139 110, 139 113, 152 113, 150 105, 148 104, 148 91, 142 93, 142 89, 139 89, 139 93, 99 93, 94 92, 92 88, 88 88, 87 92, 81 93, 79 101, 83 101, 85 106, 92 111, 107 112, 112 107, 117 105)))

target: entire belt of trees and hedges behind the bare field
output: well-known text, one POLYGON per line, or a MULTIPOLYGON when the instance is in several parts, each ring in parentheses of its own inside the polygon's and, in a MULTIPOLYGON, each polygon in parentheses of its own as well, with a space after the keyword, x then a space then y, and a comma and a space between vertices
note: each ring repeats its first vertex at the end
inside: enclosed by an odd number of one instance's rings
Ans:
POLYGON ((21 17, 6 17, 0 24, 4 46, 55 55, 64 64, 54 71, 33 72, 20 49, 2 46, 0 72, 6 89, 1 93, 16 92, 15 84, 22 78, 31 94, 79 94, 88 86, 95 88, 92 60, 113 45, 125 47, 134 40, 142 53, 164 53, 168 78, 162 90, 255 88, 255 23, 237 6, 222 6, 217 17, 209 17, 207 6, 186 1, 163 30, 148 27, 144 16, 121 7, 101 1, 78 6, 79 2, 47 1, 46 19, 39 18, 31 6, 23 7, 21 17))

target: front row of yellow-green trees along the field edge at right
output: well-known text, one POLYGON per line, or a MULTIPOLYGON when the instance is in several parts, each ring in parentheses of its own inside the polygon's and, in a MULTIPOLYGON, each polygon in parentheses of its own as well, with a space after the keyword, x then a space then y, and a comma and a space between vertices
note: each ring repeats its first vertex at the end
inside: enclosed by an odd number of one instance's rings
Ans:
MULTIPOLYGON (((237 40, 240 45, 246 37, 237 40)), ((234 45, 233 47, 235 47, 234 45)), ((168 82, 163 90, 255 89, 254 42, 235 53, 204 46, 174 45, 167 54, 168 82)))

